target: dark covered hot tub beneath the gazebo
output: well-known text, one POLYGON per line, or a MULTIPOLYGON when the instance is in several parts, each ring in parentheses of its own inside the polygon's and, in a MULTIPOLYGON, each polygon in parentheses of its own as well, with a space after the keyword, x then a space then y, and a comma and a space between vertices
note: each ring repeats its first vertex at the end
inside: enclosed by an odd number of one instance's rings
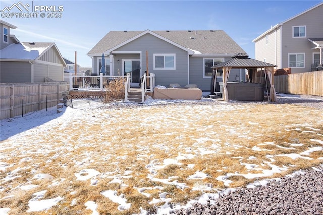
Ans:
MULTIPOLYGON (((220 92, 223 95, 223 82, 220 82, 219 85, 220 92)), ((227 82, 227 89, 229 100, 262 101, 264 97, 263 84, 249 82, 227 82)))

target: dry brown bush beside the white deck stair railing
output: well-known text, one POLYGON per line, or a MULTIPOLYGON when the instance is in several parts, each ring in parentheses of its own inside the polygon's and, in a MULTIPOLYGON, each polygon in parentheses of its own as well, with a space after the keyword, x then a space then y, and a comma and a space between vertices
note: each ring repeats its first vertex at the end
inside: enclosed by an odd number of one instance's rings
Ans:
POLYGON ((106 96, 105 102, 120 101, 125 99, 125 80, 116 78, 105 85, 106 96))

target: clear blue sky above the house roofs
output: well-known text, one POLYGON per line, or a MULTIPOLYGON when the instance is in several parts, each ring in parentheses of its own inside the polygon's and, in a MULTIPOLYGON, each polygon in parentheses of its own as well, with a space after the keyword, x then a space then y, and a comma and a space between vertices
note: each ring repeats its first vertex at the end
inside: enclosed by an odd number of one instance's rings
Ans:
MULTIPOLYGON (((0 10, 17 1, 1 1, 0 10)), ((322 2, 303 1, 24 1, 63 6, 61 18, 0 18, 21 42, 55 42, 63 57, 91 67, 86 54, 109 31, 224 30, 251 58, 257 36, 322 2)), ((15 9, 12 9, 13 12, 15 9)), ((15 12, 19 12, 15 10, 15 12)))

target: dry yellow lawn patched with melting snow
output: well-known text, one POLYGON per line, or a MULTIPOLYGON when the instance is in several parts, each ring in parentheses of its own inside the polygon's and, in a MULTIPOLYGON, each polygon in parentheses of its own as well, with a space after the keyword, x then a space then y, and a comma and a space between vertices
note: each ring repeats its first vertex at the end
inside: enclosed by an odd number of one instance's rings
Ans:
POLYGON ((167 214, 323 163, 323 109, 207 101, 2 120, 0 214, 167 214))

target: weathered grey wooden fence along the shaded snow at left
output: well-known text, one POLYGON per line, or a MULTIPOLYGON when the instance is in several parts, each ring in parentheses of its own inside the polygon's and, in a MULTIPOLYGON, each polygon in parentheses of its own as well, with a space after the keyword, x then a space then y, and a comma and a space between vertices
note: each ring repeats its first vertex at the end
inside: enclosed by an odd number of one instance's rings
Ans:
POLYGON ((0 119, 56 106, 68 84, 22 83, 0 85, 0 119))

